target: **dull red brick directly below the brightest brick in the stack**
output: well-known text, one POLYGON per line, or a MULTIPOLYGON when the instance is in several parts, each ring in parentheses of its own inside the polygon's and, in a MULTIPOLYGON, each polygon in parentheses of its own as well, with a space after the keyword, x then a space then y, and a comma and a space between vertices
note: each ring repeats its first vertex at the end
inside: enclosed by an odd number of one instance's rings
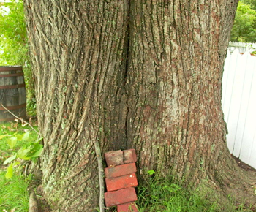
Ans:
POLYGON ((105 192, 106 207, 121 205, 127 202, 134 202, 137 200, 135 188, 120 189, 115 192, 105 192))

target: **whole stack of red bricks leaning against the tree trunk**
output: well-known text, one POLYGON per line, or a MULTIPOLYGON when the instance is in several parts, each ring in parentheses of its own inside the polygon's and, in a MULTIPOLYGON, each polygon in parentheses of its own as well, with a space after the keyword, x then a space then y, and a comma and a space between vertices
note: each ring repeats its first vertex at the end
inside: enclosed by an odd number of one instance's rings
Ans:
POLYGON ((105 153, 108 167, 105 168, 106 207, 117 206, 118 212, 138 211, 135 201, 138 186, 135 149, 109 151, 105 153))

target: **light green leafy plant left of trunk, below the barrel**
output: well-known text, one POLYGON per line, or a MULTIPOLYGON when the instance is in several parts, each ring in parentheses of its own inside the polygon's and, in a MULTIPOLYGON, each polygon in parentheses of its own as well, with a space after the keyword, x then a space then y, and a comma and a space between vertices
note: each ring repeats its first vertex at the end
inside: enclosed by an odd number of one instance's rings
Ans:
POLYGON ((0 139, 7 137, 7 143, 12 150, 12 156, 4 161, 4 165, 10 164, 9 167, 7 167, 6 178, 12 178, 13 169, 20 164, 20 160, 34 161, 41 155, 42 144, 40 144, 40 141, 42 140, 42 137, 36 141, 31 141, 29 140, 29 135, 29 131, 23 134, 15 133, 14 135, 0 135, 0 139), (23 143, 20 148, 15 148, 17 143, 21 143, 22 141, 26 141, 26 143, 23 143))

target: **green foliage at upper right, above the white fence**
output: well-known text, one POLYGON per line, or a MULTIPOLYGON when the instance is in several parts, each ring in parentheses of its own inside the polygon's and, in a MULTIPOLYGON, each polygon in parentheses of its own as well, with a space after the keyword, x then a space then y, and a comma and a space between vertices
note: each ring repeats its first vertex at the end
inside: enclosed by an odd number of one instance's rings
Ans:
POLYGON ((256 11, 241 1, 238 2, 231 41, 256 42, 256 11))

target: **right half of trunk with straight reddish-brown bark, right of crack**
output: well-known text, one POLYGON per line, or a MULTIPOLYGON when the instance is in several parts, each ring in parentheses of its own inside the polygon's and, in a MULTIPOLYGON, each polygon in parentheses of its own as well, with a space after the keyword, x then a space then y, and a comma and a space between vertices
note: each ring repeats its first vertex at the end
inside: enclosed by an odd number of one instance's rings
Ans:
POLYGON ((152 169, 203 194, 217 190, 219 200, 224 192, 255 204, 255 173, 234 164, 221 107, 237 2, 132 2, 127 141, 140 150, 140 175, 152 169))

